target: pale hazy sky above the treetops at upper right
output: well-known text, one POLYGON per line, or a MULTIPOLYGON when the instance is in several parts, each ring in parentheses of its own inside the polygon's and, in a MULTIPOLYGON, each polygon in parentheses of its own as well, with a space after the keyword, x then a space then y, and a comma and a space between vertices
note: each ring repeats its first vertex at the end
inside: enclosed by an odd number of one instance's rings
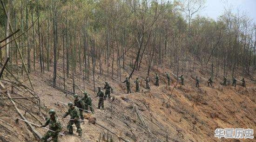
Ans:
POLYGON ((224 11, 224 7, 232 6, 234 11, 245 12, 256 23, 256 0, 206 0, 206 8, 201 15, 217 19, 224 11))

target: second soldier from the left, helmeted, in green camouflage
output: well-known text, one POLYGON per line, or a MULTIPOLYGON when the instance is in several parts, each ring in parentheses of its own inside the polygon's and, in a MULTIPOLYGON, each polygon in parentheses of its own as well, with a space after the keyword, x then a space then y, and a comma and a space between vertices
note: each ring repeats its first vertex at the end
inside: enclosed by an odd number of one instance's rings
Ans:
POLYGON ((78 132, 78 136, 82 136, 82 129, 80 126, 80 121, 79 121, 79 109, 73 105, 72 102, 67 103, 69 109, 67 110, 67 112, 64 114, 64 116, 62 116, 62 118, 65 118, 66 116, 70 115, 70 119, 74 119, 74 120, 69 120, 69 122, 67 123, 67 129, 68 129, 68 133, 69 134, 73 134, 73 124, 75 124, 76 126, 76 132, 78 132))

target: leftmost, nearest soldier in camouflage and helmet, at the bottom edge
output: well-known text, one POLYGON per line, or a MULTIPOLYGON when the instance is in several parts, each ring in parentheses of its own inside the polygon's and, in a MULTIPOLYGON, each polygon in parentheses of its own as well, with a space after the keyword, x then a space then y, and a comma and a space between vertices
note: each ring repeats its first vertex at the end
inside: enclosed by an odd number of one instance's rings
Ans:
POLYGON ((59 135, 59 132, 61 132, 61 129, 62 129, 62 125, 61 123, 58 121, 58 117, 55 115, 55 110, 50 110, 49 111, 49 114, 50 114, 50 118, 47 118, 47 121, 41 125, 40 127, 46 127, 47 125, 49 125, 49 129, 50 130, 53 130, 53 131, 50 131, 48 130, 46 132, 46 134, 41 138, 41 142, 47 142, 47 139, 49 137, 52 137, 53 138, 53 142, 58 142, 58 135, 59 135))

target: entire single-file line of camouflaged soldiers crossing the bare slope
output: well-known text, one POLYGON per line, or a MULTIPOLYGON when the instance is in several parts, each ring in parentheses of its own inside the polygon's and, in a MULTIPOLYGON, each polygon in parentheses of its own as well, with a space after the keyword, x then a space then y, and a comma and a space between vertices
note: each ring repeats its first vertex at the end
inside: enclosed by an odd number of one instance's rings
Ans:
MULTIPOLYGON (((168 73, 166 73, 166 75, 167 75, 166 78, 168 80, 168 85, 170 85, 170 76, 168 75, 168 73)), ((178 78, 181 80, 181 85, 184 85, 183 75, 181 75, 178 78)), ((235 77, 233 77, 232 85, 235 87, 236 87, 236 80, 237 79, 235 77)), ((144 81, 146 82, 146 89, 149 90, 150 85, 149 85, 148 76, 146 77, 146 79, 144 81)), ((211 85, 211 87, 212 87, 213 81, 212 81, 211 77, 209 77, 209 79, 207 81, 208 81, 208 86, 211 85)), ((195 77, 195 86, 196 87, 199 87, 199 82, 200 82, 200 80, 198 79, 198 77, 195 77)), ((244 77, 241 80, 241 82, 242 82, 242 86, 245 87, 244 77)), ((129 93, 129 92, 131 93, 129 78, 126 77, 125 81, 123 81, 122 83, 126 83, 127 93, 129 93)), ((134 81, 134 83, 136 84, 136 92, 139 92, 140 91, 139 77, 136 77, 136 80, 134 81)), ((155 73, 155 85, 159 86, 159 77, 158 77, 157 73, 155 73)), ((222 85, 227 86, 227 78, 225 76, 223 76, 223 84, 222 85)), ((104 100, 107 97, 108 97, 108 99, 110 99, 110 91, 113 93, 113 89, 108 82, 105 82, 105 86, 103 89, 106 90, 105 95, 101 91, 101 87, 98 87, 98 92, 97 92, 97 96, 96 96, 96 97, 99 97, 98 109, 104 109, 104 100)), ((82 99, 79 99, 77 94, 74 95, 74 103, 72 103, 72 102, 67 103, 69 109, 62 116, 62 118, 65 118, 66 116, 70 115, 71 120, 69 120, 69 122, 67 123, 67 129, 68 129, 68 133, 71 135, 73 134, 73 126, 72 125, 75 124, 75 126, 77 128, 76 132, 78 133, 78 136, 82 136, 82 129, 81 129, 80 121, 84 120, 83 110, 85 110, 87 112, 94 113, 91 97, 88 95, 88 93, 86 91, 84 91, 83 94, 84 94, 84 97, 82 99), (88 108, 90 108, 90 111, 88 111, 88 108)), ((41 138, 41 142, 47 142, 47 139, 49 137, 53 138, 53 142, 58 142, 58 135, 59 135, 59 132, 61 132, 62 125, 58 121, 58 117, 56 116, 55 110, 49 110, 49 115, 50 115, 50 118, 47 118, 47 121, 40 127, 46 127, 47 125, 49 125, 49 129, 53 130, 54 132, 48 130, 47 133, 41 138)))

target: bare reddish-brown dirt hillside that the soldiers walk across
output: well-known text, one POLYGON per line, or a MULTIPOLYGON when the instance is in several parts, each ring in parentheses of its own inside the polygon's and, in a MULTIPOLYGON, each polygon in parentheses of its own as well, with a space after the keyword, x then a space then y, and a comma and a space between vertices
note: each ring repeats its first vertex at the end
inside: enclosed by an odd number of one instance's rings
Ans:
MULTIPOLYGON (((157 69, 155 69, 155 72, 156 71, 157 69)), ((162 71, 166 72, 171 70, 162 68, 162 71)), ((163 75, 162 71, 157 72, 163 75)), ((199 71, 196 72, 197 76, 200 76, 199 71)), ((61 74, 61 71, 58 71, 58 74, 61 74)), ((136 71, 135 74, 141 74, 141 77, 145 78, 143 70, 136 71)), ((102 86, 101 82, 105 81, 105 79, 102 78, 106 76, 100 77, 100 74, 98 74, 98 76, 99 80, 95 80, 95 84, 96 86, 102 86)), ((42 115, 46 117, 47 110, 53 108, 57 110, 58 116, 62 116, 67 110, 67 106, 61 103, 56 106, 57 101, 67 103, 73 101, 73 97, 49 85, 51 84, 52 78, 51 72, 45 71, 45 73, 42 74, 38 71, 34 71, 31 73, 30 77, 32 78, 35 92, 47 108, 41 108, 42 115)), ((135 77, 131 79, 131 82, 135 80, 134 78, 135 77)), ((185 86, 180 87, 178 84, 172 94, 171 91, 176 84, 175 77, 172 76, 173 81, 170 86, 166 86, 165 81, 162 79, 163 77, 161 77, 159 87, 153 85, 153 74, 150 78, 151 90, 145 90, 145 83, 142 82, 141 92, 133 92, 127 95, 125 94, 125 84, 121 84, 117 79, 113 80, 106 77, 106 81, 114 88, 114 94, 111 95, 115 98, 105 101, 105 110, 95 109, 95 114, 92 116, 97 119, 96 122, 130 142, 157 142, 159 140, 162 142, 219 142, 219 139, 214 138, 214 130, 216 128, 255 129, 256 88, 255 82, 252 82, 249 78, 246 78, 247 90, 240 85, 237 85, 236 88, 230 85, 222 87, 218 83, 221 81, 220 79, 214 81, 214 88, 208 87, 207 83, 201 80, 200 87, 197 89, 194 87, 195 80, 193 78, 195 78, 195 74, 187 74, 185 76, 185 86), (148 126, 148 128, 146 128, 147 130, 143 128, 143 123, 141 123, 138 118, 135 108, 141 113, 141 116, 148 126)), ((96 108, 98 98, 94 98, 95 93, 93 92, 92 77, 90 77, 89 82, 86 81, 85 88, 82 87, 82 83, 79 83, 80 79, 81 78, 78 76, 75 77, 76 85, 81 87, 81 90, 88 91, 93 99, 93 106, 96 108)), ((72 82, 72 80, 70 82, 72 82)), ((132 90, 135 90, 134 83, 132 83, 132 90)), ((21 94, 19 91, 21 90, 14 88, 12 97, 21 94), (15 94, 16 92, 19 93, 15 94)), ((82 93, 77 87, 76 92, 82 97, 82 93)), ((26 94, 27 92, 24 92, 22 96, 26 94)), ((31 105, 27 100, 19 100, 19 102, 27 107, 31 105)), ((15 118, 19 118, 19 116, 10 102, 4 101, 1 104, 3 106, 1 110, 1 125, 4 125, 16 134, 16 137, 13 137, 12 133, 7 133, 8 135, 3 134, 1 136, 2 141, 35 141, 31 132, 27 130, 25 123, 15 123, 15 118), (13 127, 10 128, 10 126, 8 126, 9 124, 4 122, 9 123, 13 127)), ((33 109, 33 107, 31 107, 31 110, 31 113, 36 113, 36 108, 33 109)), ((25 112, 22 109, 21 111, 23 113, 25 112)), ((26 116, 29 121, 38 123, 38 121, 35 121, 35 119, 28 114, 26 116)), ((44 122, 43 117, 39 115, 35 115, 35 117, 40 122, 44 122)), ((66 128, 67 121, 61 120, 61 123, 66 128)), ((81 127, 83 130, 83 136, 81 138, 75 133, 73 136, 60 136, 60 142, 97 142, 100 135, 102 141, 103 134, 105 135, 105 139, 107 139, 107 131, 98 125, 86 122, 81 127)), ((46 132, 44 129, 36 129, 41 134, 46 132)), ((63 130, 67 131, 67 129, 63 130)), ((1 133, 3 133, 3 131, 1 133)), ((110 136, 114 138, 114 142, 117 141, 116 136, 109 133, 109 139, 110 136)), ((230 139, 222 139, 222 141, 233 142, 230 139)), ((240 139, 239 141, 253 142, 254 140, 240 139)))

